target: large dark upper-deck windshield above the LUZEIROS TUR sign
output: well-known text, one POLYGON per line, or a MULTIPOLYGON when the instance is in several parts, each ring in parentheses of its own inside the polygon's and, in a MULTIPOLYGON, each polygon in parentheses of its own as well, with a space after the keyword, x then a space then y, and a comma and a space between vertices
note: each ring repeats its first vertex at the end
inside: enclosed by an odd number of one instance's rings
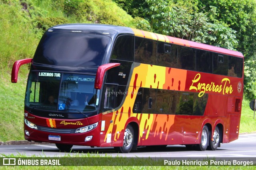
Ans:
POLYGON ((56 66, 93 67, 105 61, 111 39, 89 33, 46 32, 33 62, 56 66))

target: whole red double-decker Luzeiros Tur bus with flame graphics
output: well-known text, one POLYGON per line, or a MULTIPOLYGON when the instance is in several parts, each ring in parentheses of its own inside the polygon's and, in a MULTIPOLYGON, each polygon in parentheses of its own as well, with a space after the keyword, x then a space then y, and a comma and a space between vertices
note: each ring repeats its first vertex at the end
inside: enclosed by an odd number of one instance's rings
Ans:
POLYGON ((25 96, 28 141, 216 150, 238 139, 244 57, 128 27, 64 24, 44 33, 25 96))

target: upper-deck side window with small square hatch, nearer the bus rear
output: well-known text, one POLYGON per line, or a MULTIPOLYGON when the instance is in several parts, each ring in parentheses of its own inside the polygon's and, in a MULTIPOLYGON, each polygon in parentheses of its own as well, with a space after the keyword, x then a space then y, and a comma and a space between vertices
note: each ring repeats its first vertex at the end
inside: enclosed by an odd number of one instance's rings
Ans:
POLYGON ((213 73, 228 75, 228 56, 213 53, 213 73))

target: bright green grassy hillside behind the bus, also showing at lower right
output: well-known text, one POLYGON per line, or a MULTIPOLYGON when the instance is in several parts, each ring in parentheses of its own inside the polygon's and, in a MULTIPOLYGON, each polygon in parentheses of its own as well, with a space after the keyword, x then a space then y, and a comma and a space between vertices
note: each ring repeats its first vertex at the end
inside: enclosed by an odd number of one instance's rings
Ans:
MULTIPOLYGON (((24 139, 23 110, 29 64, 20 68, 16 84, 10 82, 11 68, 14 61, 33 57, 46 29, 62 23, 104 23, 149 29, 142 13, 133 12, 130 16, 112 0, 0 0, 0 11, 0 141, 24 139)), ((244 101, 240 132, 256 131, 254 124, 253 111, 248 108, 248 101, 244 101)))

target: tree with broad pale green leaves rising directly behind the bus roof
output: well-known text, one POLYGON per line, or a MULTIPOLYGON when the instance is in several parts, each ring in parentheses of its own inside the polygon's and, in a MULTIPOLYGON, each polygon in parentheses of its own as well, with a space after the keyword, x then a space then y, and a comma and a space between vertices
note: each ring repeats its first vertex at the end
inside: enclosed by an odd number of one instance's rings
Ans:
POLYGON ((149 31, 207 43, 218 47, 235 49, 238 41, 236 31, 222 23, 212 23, 208 13, 216 14, 212 7, 207 13, 198 12, 197 1, 146 0, 146 21, 140 21, 138 28, 149 31))

